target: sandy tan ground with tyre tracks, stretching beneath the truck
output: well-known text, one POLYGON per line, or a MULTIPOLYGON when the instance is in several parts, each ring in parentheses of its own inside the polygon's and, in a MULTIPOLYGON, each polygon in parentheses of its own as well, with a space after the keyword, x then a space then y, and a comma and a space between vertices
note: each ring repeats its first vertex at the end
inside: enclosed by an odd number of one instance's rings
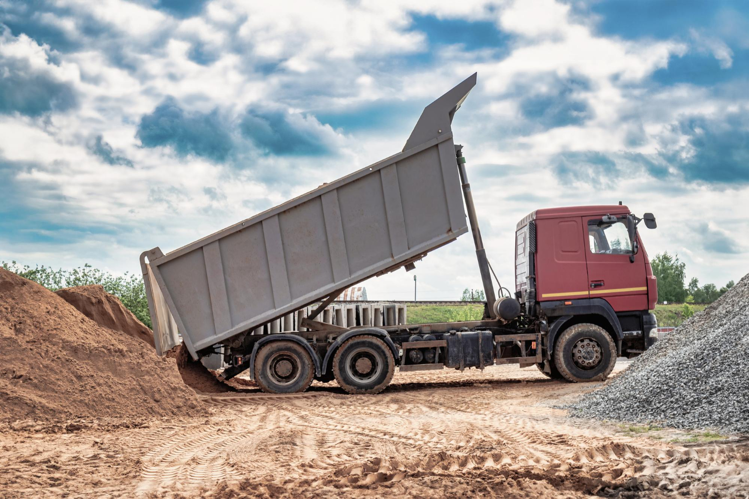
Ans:
POLYGON ((237 386, 201 396, 208 417, 4 427, 0 497, 749 497, 746 439, 570 418, 553 406, 599 385, 535 368, 396 373, 375 396, 237 386))

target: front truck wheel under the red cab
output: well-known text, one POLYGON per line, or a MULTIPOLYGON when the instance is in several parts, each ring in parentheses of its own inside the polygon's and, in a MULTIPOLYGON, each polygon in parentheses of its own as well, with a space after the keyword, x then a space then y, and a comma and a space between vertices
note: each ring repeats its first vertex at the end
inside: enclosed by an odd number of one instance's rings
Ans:
POLYGON ((576 324, 566 328, 554 348, 554 365, 571 382, 606 379, 616 364, 616 345, 604 328, 576 324))

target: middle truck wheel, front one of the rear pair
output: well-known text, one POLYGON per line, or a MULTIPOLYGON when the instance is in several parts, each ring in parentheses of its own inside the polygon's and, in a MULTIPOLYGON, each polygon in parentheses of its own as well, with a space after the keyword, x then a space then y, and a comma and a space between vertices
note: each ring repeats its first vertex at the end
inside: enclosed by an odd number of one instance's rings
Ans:
POLYGON ((333 373, 349 394, 377 394, 395 372, 395 360, 380 338, 363 334, 346 340, 333 357, 333 373))

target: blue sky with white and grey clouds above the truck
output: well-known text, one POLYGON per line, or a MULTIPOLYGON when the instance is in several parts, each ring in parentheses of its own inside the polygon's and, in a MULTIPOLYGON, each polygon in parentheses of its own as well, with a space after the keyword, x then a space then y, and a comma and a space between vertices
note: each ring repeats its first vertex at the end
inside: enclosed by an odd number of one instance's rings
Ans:
MULTIPOLYGON (((487 254, 514 288, 534 209, 653 212, 650 257, 749 272, 749 3, 0 0, 0 260, 139 272, 398 153, 455 114, 487 254)), ((479 288, 470 235, 369 299, 479 288)))

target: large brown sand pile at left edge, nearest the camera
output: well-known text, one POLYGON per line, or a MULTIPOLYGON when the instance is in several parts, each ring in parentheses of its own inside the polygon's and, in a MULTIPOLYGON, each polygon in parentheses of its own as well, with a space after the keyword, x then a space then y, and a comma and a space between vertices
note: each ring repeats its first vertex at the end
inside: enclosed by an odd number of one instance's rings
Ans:
POLYGON ((203 414, 172 359, 0 269, 0 420, 203 414))

